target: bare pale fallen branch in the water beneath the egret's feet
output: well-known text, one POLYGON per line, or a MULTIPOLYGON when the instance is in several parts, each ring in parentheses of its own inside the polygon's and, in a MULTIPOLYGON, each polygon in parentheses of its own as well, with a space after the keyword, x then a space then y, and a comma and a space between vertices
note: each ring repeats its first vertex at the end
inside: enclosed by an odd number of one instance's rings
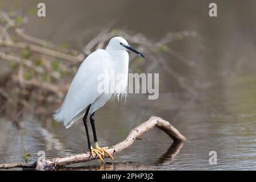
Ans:
MULTIPOLYGON (((113 147, 109 148, 108 151, 111 155, 119 154, 121 151, 130 147, 134 140, 138 139, 141 137, 141 135, 153 129, 155 126, 165 131, 165 133, 168 134, 174 140, 174 142, 186 141, 186 138, 181 133, 179 133, 179 131, 175 129, 175 127, 173 127, 169 122, 163 120, 162 118, 153 116, 150 117, 147 121, 143 122, 141 125, 131 130, 128 137, 123 142, 115 144, 113 147)), ((106 157, 108 156, 106 155, 106 157)), ((57 157, 53 159, 47 159, 44 162, 35 162, 32 164, 0 164, 0 168, 35 167, 36 170, 46 170, 57 166, 66 166, 67 164, 81 163, 94 159, 98 159, 98 156, 95 154, 91 155, 91 153, 87 151, 77 155, 57 157)))

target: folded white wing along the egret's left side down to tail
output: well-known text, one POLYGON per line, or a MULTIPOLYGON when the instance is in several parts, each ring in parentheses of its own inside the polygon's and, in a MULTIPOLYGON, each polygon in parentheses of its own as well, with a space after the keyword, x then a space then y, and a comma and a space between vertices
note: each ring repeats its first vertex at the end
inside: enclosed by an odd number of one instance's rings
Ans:
POLYGON ((63 121, 66 127, 80 119, 81 113, 85 113, 87 107, 105 91, 106 87, 99 90, 99 83, 109 85, 109 72, 112 66, 113 59, 107 51, 98 49, 91 53, 79 67, 65 101, 55 111, 54 118, 63 121), (103 79, 99 80, 100 77, 103 79))

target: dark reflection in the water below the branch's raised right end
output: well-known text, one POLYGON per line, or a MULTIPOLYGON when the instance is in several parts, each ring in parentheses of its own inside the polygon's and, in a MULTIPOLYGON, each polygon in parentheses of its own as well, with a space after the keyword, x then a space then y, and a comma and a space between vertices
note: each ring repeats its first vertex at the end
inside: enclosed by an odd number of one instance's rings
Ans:
POLYGON ((166 164, 170 164, 176 155, 179 154, 179 151, 181 150, 184 142, 173 142, 166 151, 165 154, 161 156, 161 158, 158 159, 158 161, 155 163, 156 166, 163 166, 166 164))

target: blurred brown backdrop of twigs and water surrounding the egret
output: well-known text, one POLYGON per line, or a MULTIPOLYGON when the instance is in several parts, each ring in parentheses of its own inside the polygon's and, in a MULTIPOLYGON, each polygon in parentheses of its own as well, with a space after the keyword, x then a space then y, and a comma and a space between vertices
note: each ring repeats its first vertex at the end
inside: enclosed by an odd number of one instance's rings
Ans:
MULTIPOLYGON (((130 54, 131 73, 159 73, 159 98, 129 94, 97 111, 101 146, 121 142, 157 115, 185 137, 172 144, 153 129, 107 160, 65 169, 256 169, 255 1, 0 1, 0 163, 87 150, 82 122, 51 119, 81 61, 113 36, 130 54), (44 2, 46 17, 37 16, 44 2), (218 16, 209 16, 217 3, 218 16), (216 151, 218 164, 209 164, 216 151)), ((92 132, 91 132, 92 133, 92 132)))

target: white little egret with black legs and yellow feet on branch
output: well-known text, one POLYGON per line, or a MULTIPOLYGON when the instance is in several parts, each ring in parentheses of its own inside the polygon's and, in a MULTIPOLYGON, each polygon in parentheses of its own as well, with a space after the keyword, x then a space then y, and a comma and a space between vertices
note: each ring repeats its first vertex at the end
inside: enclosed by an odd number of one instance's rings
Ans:
MULTIPOLYGON (((112 38, 105 50, 98 49, 87 56, 73 78, 62 106, 54 110, 53 113, 54 119, 64 122, 66 128, 69 128, 75 121, 83 117, 89 150, 92 155, 95 153, 102 162, 105 159, 105 153, 111 159, 113 159, 113 156, 106 151, 107 147, 102 148, 98 145, 94 115, 95 111, 105 105, 113 94, 116 94, 118 97, 119 94, 121 94, 121 97, 126 94, 129 67, 128 50, 144 57, 142 53, 129 46, 127 41, 121 37, 112 38), (106 86, 103 91, 107 91, 112 80, 110 72, 113 70, 115 76, 121 73, 124 75, 124 78, 121 81, 119 80, 118 84, 115 84, 114 93, 99 92, 98 84, 100 81, 98 76, 102 73, 105 74, 103 84, 106 86), (90 115, 90 123, 93 129, 95 148, 91 146, 90 142, 87 127, 88 115, 90 115)), ((114 81, 117 82, 116 80, 114 81)))

